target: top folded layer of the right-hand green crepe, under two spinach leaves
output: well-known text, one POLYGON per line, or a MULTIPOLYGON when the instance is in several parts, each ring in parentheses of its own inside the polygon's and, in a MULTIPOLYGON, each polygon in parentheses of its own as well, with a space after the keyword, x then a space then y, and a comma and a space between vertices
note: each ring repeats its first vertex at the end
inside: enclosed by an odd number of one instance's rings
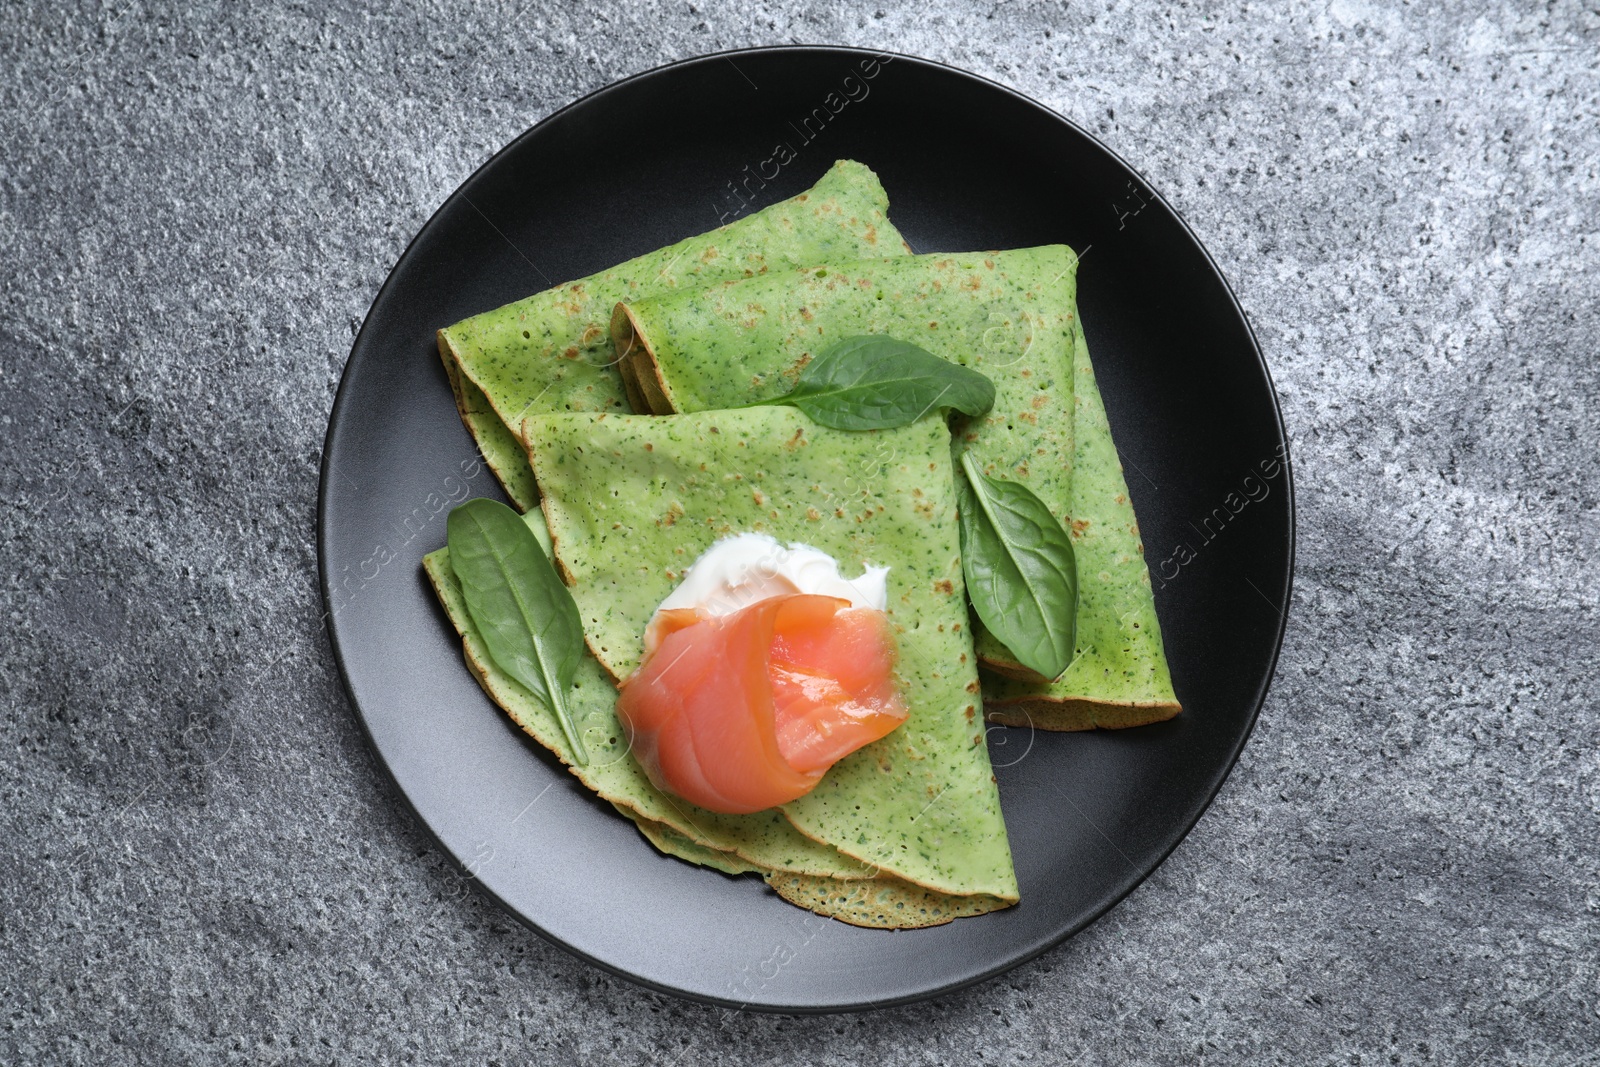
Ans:
MULTIPOLYGON (((1077 262, 1066 245, 846 262, 630 301, 611 333, 624 378, 658 414, 784 394, 842 338, 910 341, 994 381, 994 410, 960 427, 958 446, 1066 522, 1077 262)), ((1022 669, 982 630, 978 654, 1022 669)))

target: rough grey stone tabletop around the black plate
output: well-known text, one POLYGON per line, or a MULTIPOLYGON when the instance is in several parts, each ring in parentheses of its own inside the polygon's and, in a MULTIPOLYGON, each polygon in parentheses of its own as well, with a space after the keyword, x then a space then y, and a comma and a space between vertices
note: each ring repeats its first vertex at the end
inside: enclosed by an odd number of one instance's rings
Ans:
POLYGON ((1600 1064, 1592 3, 13 3, 0 54, 0 1061, 1600 1064), (1173 857, 998 981, 814 1019, 459 891, 314 581, 339 371, 434 208, 616 77, 784 42, 1130 158, 1259 331, 1301 522, 1173 857))

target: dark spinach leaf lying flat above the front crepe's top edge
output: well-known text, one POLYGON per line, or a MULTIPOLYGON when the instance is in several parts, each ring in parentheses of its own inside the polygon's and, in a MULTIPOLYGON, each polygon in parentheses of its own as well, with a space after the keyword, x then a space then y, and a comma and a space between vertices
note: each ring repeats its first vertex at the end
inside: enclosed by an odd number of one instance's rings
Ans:
POLYGON ((800 371, 795 387, 763 400, 805 411, 835 430, 891 430, 934 410, 982 414, 995 387, 978 371, 894 338, 845 338, 800 371))

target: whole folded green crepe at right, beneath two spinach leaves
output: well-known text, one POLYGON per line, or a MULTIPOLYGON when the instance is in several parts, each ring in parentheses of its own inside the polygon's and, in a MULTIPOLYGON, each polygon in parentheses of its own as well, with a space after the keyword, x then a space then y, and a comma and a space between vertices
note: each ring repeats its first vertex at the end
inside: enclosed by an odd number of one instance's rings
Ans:
POLYGON ((1126 483, 1082 344, 1070 248, 768 274, 627 301, 611 333, 624 378, 658 414, 781 395, 829 344, 866 333, 987 374, 995 406, 957 424, 955 448, 971 451, 986 474, 1026 483, 1067 525, 1085 593, 1077 659, 1061 678, 1034 675, 979 630, 978 654, 992 672, 986 712, 1045 729, 1178 713, 1126 483), (1078 462, 1088 464, 1082 478, 1078 462))

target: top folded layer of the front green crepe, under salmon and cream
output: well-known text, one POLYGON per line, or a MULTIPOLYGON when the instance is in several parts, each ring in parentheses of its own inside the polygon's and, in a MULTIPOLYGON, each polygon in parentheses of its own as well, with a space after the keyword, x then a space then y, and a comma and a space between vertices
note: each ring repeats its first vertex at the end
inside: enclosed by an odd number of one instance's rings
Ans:
MULTIPOLYGON (((523 440, 589 648, 614 678, 638 665, 656 605, 726 534, 800 541, 846 573, 890 565, 886 614, 910 718, 781 811, 805 837, 883 875, 970 897, 941 902, 931 921, 1016 901, 978 717, 942 419, 843 432, 786 408, 544 414, 523 422, 523 440)), ((786 880, 770 881, 784 891, 786 880)), ((882 909, 893 881, 878 881, 854 896, 822 886, 808 907, 882 909)))

